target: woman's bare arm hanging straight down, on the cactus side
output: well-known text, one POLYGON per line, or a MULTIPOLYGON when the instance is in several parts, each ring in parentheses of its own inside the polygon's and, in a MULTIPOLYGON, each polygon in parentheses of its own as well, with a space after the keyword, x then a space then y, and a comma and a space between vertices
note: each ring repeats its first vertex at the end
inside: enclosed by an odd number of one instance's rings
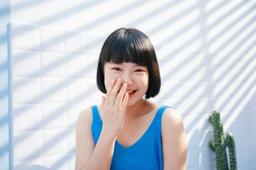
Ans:
POLYGON ((166 108, 162 117, 162 149, 164 170, 186 170, 186 133, 180 114, 172 108, 166 108))

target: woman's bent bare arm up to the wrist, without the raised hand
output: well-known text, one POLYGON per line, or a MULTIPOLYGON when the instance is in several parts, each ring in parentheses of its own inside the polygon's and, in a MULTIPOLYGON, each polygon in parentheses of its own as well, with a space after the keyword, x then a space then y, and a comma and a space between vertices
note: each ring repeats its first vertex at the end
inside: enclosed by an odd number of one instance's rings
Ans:
POLYGON ((91 108, 82 111, 76 123, 75 170, 109 170, 116 139, 102 131, 95 146, 92 132, 91 108))

